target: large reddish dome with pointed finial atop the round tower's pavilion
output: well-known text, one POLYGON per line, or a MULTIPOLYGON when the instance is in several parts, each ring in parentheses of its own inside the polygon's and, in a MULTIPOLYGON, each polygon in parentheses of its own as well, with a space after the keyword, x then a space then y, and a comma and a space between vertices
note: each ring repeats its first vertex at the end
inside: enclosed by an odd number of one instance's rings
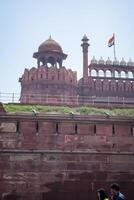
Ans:
POLYGON ((46 40, 45 42, 43 42, 39 48, 38 48, 39 52, 43 52, 43 51, 55 51, 55 52, 60 52, 63 53, 61 46, 51 38, 51 36, 49 37, 48 40, 46 40))

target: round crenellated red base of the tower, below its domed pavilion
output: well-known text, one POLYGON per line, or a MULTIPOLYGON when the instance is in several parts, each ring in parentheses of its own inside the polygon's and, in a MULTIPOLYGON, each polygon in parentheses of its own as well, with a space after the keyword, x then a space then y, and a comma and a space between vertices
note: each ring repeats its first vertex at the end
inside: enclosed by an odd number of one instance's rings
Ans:
MULTIPOLYGON (((77 95, 77 73, 65 67, 40 66, 25 69, 19 81, 21 82, 21 103, 61 104, 63 103, 62 95, 77 95), (49 100, 48 96, 51 96, 49 100)), ((65 100, 64 103, 68 102, 65 100)))

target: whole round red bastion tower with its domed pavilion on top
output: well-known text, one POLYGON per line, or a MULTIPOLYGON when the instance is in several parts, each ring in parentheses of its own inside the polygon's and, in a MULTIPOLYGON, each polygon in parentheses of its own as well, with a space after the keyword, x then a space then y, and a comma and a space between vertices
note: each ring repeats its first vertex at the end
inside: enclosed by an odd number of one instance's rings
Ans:
POLYGON ((20 102, 73 104, 72 96, 77 95, 77 74, 63 66, 67 55, 63 53, 62 47, 50 36, 33 57, 37 59, 37 67, 25 69, 19 79, 20 102))

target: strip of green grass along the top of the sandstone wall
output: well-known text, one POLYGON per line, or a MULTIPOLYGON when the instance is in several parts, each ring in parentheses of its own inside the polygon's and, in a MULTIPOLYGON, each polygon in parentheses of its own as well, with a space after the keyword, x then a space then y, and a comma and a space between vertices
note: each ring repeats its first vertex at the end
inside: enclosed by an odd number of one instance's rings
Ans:
POLYGON ((97 108, 92 106, 68 107, 68 106, 45 106, 45 105, 22 105, 4 104, 7 112, 13 113, 32 113, 35 109, 39 113, 60 113, 69 114, 90 114, 90 115, 110 115, 110 116, 134 116, 134 108, 97 108))

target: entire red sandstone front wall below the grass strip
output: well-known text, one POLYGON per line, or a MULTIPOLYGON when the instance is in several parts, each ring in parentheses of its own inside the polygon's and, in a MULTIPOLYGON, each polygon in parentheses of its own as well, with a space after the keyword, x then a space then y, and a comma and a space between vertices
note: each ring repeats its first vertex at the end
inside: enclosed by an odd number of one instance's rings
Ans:
POLYGON ((95 200, 118 182, 133 197, 133 118, 0 116, 0 193, 22 199, 95 200))

